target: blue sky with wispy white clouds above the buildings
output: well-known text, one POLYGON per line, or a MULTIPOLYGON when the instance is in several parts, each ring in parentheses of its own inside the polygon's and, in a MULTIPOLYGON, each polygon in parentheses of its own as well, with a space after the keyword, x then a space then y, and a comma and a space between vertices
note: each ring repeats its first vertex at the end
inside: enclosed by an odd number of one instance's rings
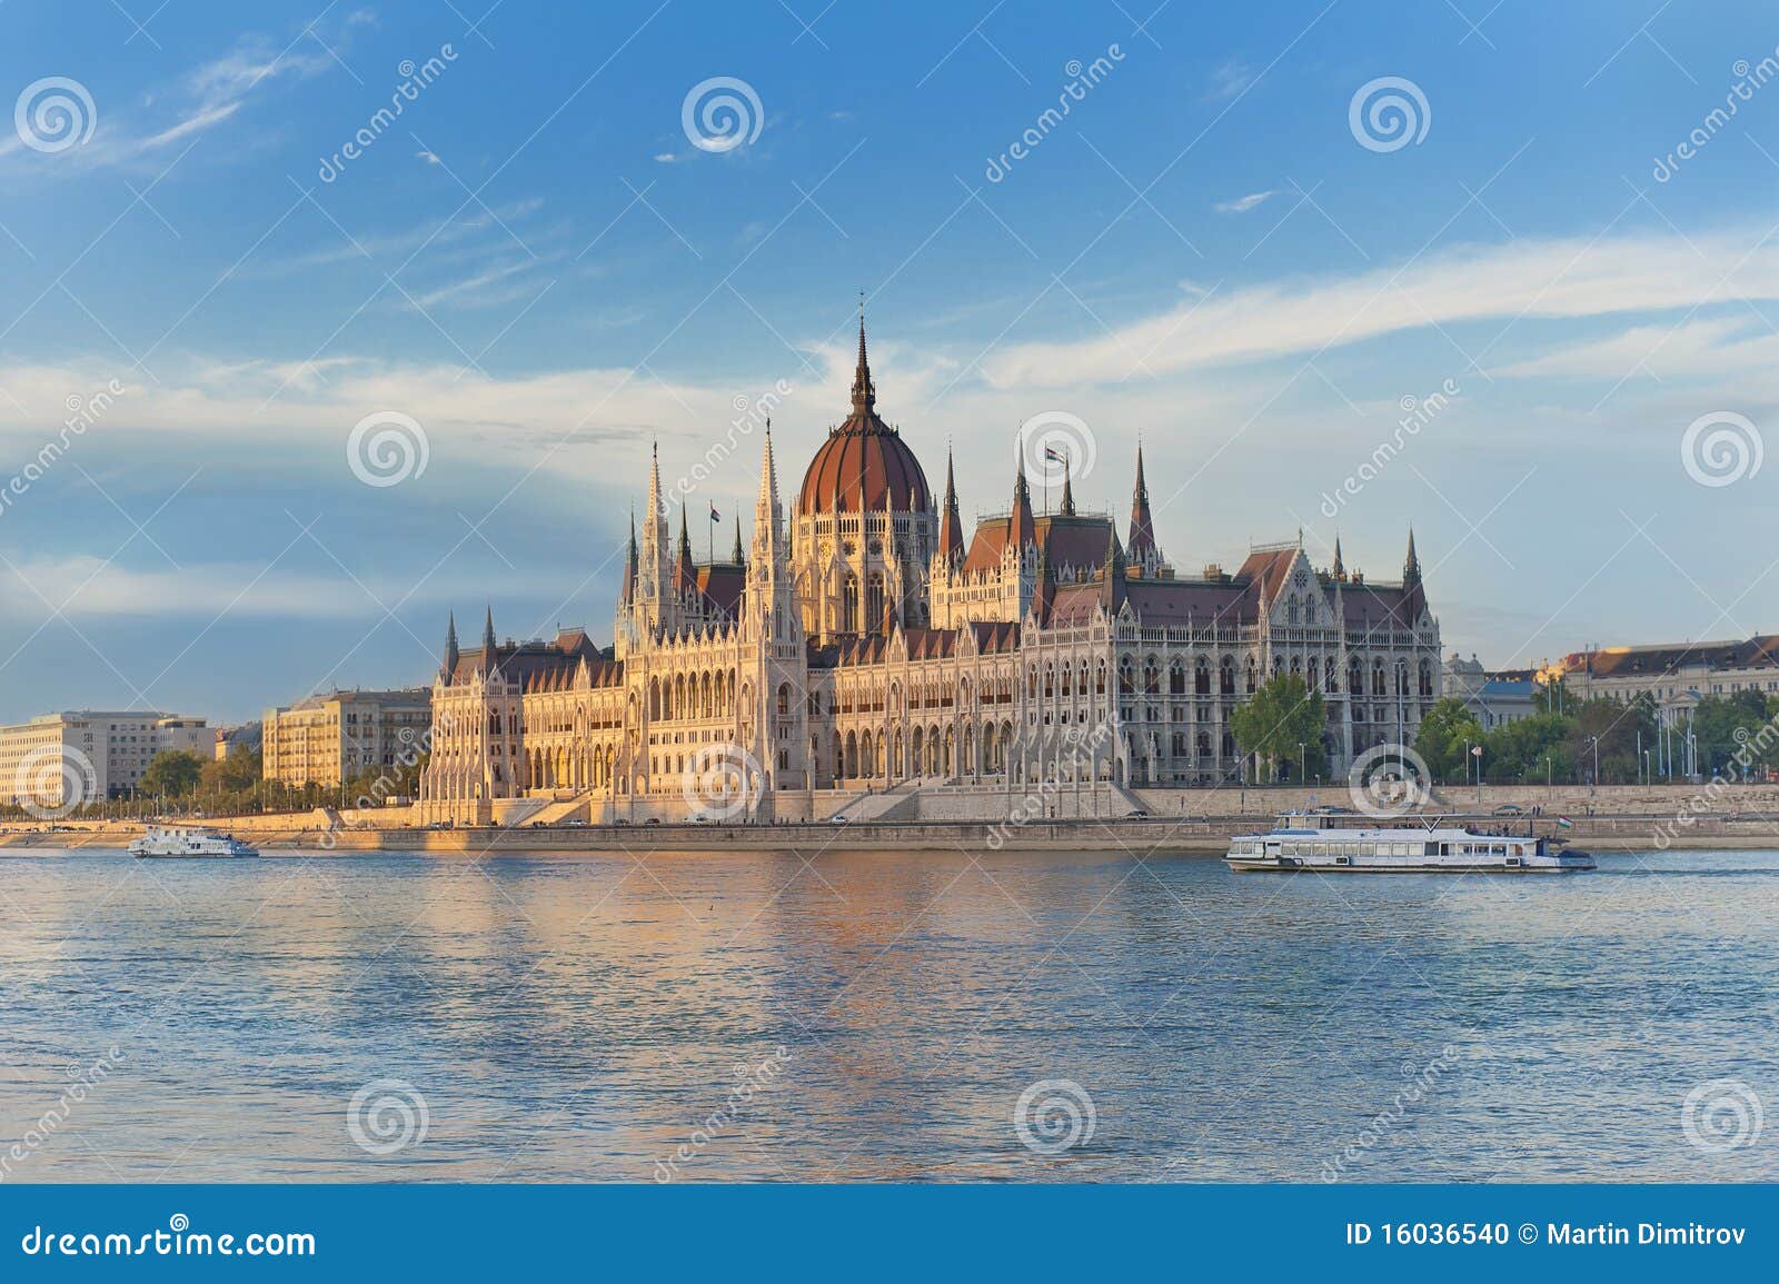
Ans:
MULTIPOLYGON (((0 7, 0 489, 123 389, 0 505, 0 718, 418 683, 450 605, 608 637, 649 443, 683 471, 785 381, 793 487, 859 290, 966 525, 1064 413, 1119 512, 1142 436, 1183 571, 1302 526, 1393 576, 1413 521, 1448 647, 1494 665, 1779 630, 1779 466, 1683 457, 1701 416, 1695 455, 1775 421, 1761 5, 484 9, 0 7), (719 76, 760 108, 696 146, 719 76), (1363 146, 1386 76, 1425 132, 1363 146), (386 411, 425 469, 366 486, 386 411)), ((751 510, 756 466, 694 512, 751 510)))

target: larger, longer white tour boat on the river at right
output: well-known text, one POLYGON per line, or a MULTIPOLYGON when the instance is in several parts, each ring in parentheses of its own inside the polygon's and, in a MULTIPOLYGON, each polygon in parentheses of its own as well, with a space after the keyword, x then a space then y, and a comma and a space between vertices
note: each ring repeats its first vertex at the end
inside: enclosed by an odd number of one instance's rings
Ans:
POLYGON ((1267 834, 1229 839, 1231 870, 1322 873, 1569 873, 1592 870, 1587 852, 1532 834, 1482 834, 1459 825, 1389 827, 1318 813, 1279 816, 1267 834))

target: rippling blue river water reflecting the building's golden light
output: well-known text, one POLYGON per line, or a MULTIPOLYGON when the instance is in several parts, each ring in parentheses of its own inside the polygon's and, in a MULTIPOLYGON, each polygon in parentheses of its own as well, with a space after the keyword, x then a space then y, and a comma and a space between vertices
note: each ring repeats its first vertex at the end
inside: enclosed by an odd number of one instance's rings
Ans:
POLYGON ((4 852, 0 1179, 1779 1179, 1779 852, 1599 864, 4 852))

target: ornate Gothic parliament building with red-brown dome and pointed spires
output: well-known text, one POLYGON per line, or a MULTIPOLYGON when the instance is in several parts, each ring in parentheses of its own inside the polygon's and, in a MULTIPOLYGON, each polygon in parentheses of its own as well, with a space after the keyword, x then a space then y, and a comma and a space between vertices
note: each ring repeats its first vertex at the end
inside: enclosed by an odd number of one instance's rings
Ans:
POLYGON ((1010 498, 966 537, 950 461, 936 500, 877 413, 861 324, 852 413, 788 514, 767 427, 749 550, 737 530, 728 560, 696 562, 653 462, 608 647, 496 642, 489 614, 463 649, 452 622, 416 818, 1005 820, 1034 791, 1046 815, 1123 815, 1149 790, 1252 779, 1229 718, 1272 674, 1322 694, 1336 775, 1413 743, 1437 699, 1413 534, 1398 583, 1348 574, 1338 541, 1318 569, 1300 537, 1179 574, 1140 448, 1123 539, 1066 475, 1057 510, 1034 510, 1023 459, 1010 498))

